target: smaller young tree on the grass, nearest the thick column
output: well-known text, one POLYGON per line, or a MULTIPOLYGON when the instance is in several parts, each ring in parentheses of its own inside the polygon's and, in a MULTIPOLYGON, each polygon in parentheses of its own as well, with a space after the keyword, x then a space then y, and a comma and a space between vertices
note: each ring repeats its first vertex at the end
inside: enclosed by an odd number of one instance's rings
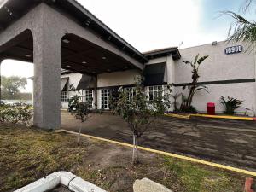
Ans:
MULTIPOLYGON (((89 119, 89 114, 91 112, 89 108, 89 101, 81 102, 79 96, 73 96, 73 98, 69 100, 69 106, 71 107, 68 109, 68 111, 82 123, 89 119)), ((79 126, 78 145, 80 145, 81 129, 82 127, 79 126)))

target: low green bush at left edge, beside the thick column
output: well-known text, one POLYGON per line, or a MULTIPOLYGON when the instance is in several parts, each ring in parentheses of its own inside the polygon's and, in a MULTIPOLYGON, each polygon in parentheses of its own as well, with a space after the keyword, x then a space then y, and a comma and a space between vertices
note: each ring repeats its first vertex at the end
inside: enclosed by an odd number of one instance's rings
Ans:
POLYGON ((32 106, 26 103, 0 105, 0 122, 29 125, 32 119, 32 106))

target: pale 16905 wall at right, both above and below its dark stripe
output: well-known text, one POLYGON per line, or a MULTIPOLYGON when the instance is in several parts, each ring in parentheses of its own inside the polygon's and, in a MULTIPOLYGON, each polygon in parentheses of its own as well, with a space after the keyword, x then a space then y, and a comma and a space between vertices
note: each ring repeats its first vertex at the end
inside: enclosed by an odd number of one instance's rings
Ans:
MULTIPOLYGON (((247 49, 245 44, 227 44, 218 42, 217 46, 212 44, 201 45, 188 49, 180 49, 182 58, 175 61, 175 78, 174 83, 189 83, 191 79, 191 67, 183 63, 184 60, 193 61, 198 53, 209 55, 206 61, 200 67, 200 82, 232 80, 232 79, 254 79, 255 78, 255 59, 253 53, 245 52, 233 55, 225 55, 224 49, 232 45, 242 45, 247 49)), ((220 104, 220 96, 232 96, 243 100, 241 108, 237 112, 245 111, 245 108, 255 108, 255 83, 239 83, 239 84, 212 84, 207 85, 209 94, 200 90, 195 94, 193 105, 199 111, 206 111, 207 102, 215 102, 216 110, 223 112, 224 108, 220 104)), ((182 91, 182 87, 176 87, 177 92, 182 91)), ((186 91, 188 96, 188 90, 186 91)))

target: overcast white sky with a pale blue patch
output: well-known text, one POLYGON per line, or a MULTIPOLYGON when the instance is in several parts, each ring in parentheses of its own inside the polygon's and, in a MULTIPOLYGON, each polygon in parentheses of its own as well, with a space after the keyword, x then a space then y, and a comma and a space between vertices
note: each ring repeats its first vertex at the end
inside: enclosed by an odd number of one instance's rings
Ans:
MULTIPOLYGON (((231 19, 220 11, 238 12, 245 0, 78 0, 119 36, 140 51, 179 46, 181 49, 221 41, 231 19), (182 44, 183 42, 183 44, 182 44)), ((255 6, 247 13, 253 20, 255 6)), ((4 61, 2 74, 33 76, 33 65, 4 61)), ((32 92, 29 81, 26 90, 32 92)))

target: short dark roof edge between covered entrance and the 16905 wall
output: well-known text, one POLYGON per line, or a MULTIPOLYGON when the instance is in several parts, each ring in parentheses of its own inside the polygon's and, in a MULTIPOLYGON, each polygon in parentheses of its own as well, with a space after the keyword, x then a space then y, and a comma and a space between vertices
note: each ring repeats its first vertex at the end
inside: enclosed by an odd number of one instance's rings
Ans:
POLYGON ((181 58, 180 52, 177 47, 156 49, 143 53, 148 60, 156 59, 167 55, 172 55, 173 60, 179 60, 181 58))

